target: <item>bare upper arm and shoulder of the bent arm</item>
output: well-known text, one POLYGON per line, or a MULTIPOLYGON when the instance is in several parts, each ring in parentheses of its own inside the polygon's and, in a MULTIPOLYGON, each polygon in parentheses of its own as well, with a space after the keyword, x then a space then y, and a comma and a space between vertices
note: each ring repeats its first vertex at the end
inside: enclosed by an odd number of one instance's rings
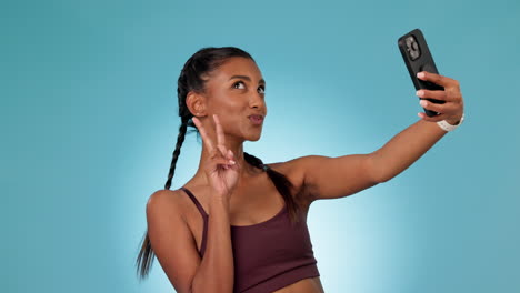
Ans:
POLYGON ((200 256, 182 213, 180 190, 158 190, 147 202, 148 235, 177 292, 189 292, 200 256))

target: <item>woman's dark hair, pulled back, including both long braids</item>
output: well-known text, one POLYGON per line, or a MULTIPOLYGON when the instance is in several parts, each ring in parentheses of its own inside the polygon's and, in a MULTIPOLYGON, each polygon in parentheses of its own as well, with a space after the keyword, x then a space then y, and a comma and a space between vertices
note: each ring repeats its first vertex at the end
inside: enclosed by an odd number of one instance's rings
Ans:
MULTIPOLYGON (((242 57, 249 58, 254 61, 254 59, 246 51, 234 48, 234 47, 222 47, 222 48, 202 48, 197 51, 188 61, 186 62, 182 71, 179 75, 177 95, 179 98, 179 115, 181 118, 181 125, 179 128, 179 135, 177 137, 177 145, 173 151, 173 158, 171 160, 170 172, 168 173, 168 180, 164 184, 164 189, 169 190, 171 186, 171 180, 176 171, 177 159, 180 154, 180 149, 184 142, 184 137, 187 134, 188 127, 192 127, 191 132, 197 132, 200 135, 197 127, 194 125, 191 118, 193 117, 186 104, 186 97, 190 91, 203 92, 204 83, 207 77, 218 67, 220 67, 227 59, 232 57, 242 57)), ((294 202, 291 190, 293 188, 292 183, 282 174, 279 173, 263 162, 247 152, 243 153, 246 162, 249 164, 262 169, 269 175, 269 178, 274 183, 278 192, 283 196, 286 205, 289 210, 291 222, 298 221, 299 206, 294 202)), ((140 279, 148 276, 151 264, 153 262, 154 253, 151 247, 150 238, 148 236, 148 230, 144 232, 144 235, 141 240, 141 250, 136 261, 138 274, 140 279)))

